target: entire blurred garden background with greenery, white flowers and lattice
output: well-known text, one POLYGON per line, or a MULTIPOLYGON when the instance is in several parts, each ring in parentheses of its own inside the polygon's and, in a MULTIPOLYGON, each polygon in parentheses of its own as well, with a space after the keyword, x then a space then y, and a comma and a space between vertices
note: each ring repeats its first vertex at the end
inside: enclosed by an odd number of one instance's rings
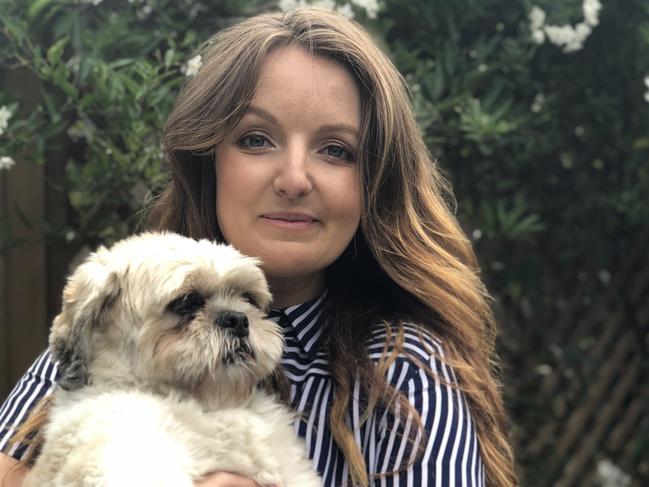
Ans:
POLYGON ((404 74, 454 185, 523 485, 649 485, 649 2, 602 2, 0 0, 1 255, 34 243, 23 226, 65 265, 132 232, 201 42, 262 11, 338 9, 404 74), (11 200, 20 165, 63 218, 11 200))

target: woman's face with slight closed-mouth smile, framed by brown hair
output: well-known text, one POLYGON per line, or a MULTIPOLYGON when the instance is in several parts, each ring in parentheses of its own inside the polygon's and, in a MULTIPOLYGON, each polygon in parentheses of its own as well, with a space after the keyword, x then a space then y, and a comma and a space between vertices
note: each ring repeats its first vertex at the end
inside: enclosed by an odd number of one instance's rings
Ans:
POLYGON ((361 215, 359 126, 347 71, 289 47, 265 61, 250 107, 217 147, 219 226, 261 259, 271 287, 299 278, 320 292, 324 269, 351 241, 361 215))

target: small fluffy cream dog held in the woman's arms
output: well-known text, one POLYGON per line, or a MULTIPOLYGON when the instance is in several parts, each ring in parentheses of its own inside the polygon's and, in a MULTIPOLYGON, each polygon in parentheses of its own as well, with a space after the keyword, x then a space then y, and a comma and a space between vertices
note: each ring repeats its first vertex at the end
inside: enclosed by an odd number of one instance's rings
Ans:
POLYGON ((320 486, 291 414, 259 387, 283 338, 257 264, 171 233, 91 254, 52 326, 61 379, 24 485, 189 487, 227 470, 320 486))

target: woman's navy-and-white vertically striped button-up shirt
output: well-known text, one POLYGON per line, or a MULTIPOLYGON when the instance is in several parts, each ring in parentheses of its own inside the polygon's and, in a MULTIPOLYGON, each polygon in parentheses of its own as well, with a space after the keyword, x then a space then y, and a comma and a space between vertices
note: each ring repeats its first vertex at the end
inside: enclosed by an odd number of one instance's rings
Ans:
MULTIPOLYGON (((290 384, 292 406, 299 412, 295 431, 307 445, 314 468, 324 486, 347 486, 349 465, 336 445, 329 426, 333 380, 329 373, 326 339, 319 326, 324 296, 284 310, 271 311, 269 318, 284 331, 282 363, 290 384)), ((368 352, 376 362, 386 342, 384 326, 373 329, 368 352)), ((373 476, 408 463, 412 453, 408 432, 414 426, 409 418, 398 419, 377 407, 361 421, 363 401, 359 384, 354 385, 347 412, 347 424, 354 434, 367 467, 372 486, 462 486, 485 485, 477 436, 463 395, 457 389, 430 378, 417 363, 428 365, 447 383, 456 381, 453 370, 433 355, 443 356, 439 340, 415 325, 405 325, 404 352, 387 371, 388 382, 405 394, 421 416, 426 429, 423 454, 407 469, 394 475, 373 476), (422 343, 423 342, 425 343, 422 343), (433 351, 431 355, 430 351, 433 351)), ((0 449, 34 404, 50 394, 58 377, 49 351, 34 362, 0 409, 0 449)), ((419 437, 417 437, 419 438, 419 437)), ((9 454, 20 458, 25 447, 14 447, 9 454)))

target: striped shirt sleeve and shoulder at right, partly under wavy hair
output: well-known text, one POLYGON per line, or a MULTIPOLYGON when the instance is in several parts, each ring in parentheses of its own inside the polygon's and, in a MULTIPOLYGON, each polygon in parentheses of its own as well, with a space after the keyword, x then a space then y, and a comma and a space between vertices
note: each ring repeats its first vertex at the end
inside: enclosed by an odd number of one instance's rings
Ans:
POLYGON ((464 395, 448 385, 457 380, 452 368, 441 360, 441 343, 425 330, 407 325, 404 348, 406 353, 390 366, 388 380, 419 413, 426 435, 423 439, 413 435, 417 430, 411 418, 403 420, 398 419, 398 414, 378 412, 379 417, 373 418, 377 440, 371 448, 373 458, 366 455, 370 473, 379 474, 373 485, 484 487, 484 466, 475 427, 464 395), (442 381, 426 374, 418 362, 430 367, 442 381), (421 453, 416 456, 418 452, 421 453), (380 475, 413 458, 414 463, 407 469, 394 475, 380 475))

